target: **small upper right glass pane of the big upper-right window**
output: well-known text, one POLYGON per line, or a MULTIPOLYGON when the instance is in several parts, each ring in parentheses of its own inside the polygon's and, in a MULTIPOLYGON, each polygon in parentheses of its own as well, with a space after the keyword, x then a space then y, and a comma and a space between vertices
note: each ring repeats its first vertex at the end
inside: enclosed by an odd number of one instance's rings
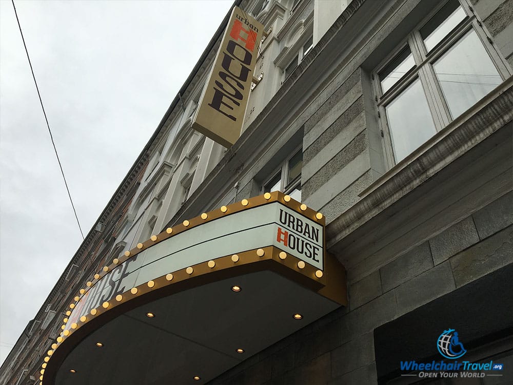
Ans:
POLYGON ((427 51, 433 49, 450 31, 467 17, 460 3, 452 0, 443 7, 427 24, 421 28, 427 51))

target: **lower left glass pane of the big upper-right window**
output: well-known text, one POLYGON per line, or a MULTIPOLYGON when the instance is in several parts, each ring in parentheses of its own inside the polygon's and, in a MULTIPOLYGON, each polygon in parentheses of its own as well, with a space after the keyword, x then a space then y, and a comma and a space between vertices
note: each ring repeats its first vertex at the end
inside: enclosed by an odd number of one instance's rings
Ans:
POLYGON ((411 83, 385 109, 397 162, 403 160, 436 132, 419 79, 411 83))

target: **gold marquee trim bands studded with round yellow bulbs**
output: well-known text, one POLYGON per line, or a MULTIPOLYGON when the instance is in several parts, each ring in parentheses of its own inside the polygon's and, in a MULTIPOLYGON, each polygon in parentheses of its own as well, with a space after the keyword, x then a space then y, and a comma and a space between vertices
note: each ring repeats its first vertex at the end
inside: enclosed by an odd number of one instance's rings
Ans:
MULTIPOLYGON (((146 240, 142 243, 137 243, 136 247, 131 250, 125 251, 121 256, 114 258, 109 265, 103 266, 100 268, 100 271, 95 273, 90 280, 87 281, 86 287, 80 288, 78 290, 76 296, 74 297, 75 303, 71 303, 69 305, 69 310, 66 311, 66 318, 64 318, 64 324, 61 326, 62 332, 56 338, 55 342, 52 342, 51 349, 47 352, 47 355, 43 358, 43 363, 41 365, 41 376, 40 376, 40 385, 46 385, 48 381, 44 381, 44 373, 47 370, 47 365, 51 363, 51 358, 53 357, 53 353, 61 347, 61 345, 74 333, 79 331, 84 325, 88 324, 92 320, 97 317, 102 316, 105 313, 112 312, 117 306, 120 306, 126 302, 129 302, 135 298, 140 298, 154 290, 159 290, 160 288, 170 286, 176 284, 178 282, 184 282, 193 277, 200 277, 207 275, 211 272, 222 271, 225 269, 229 269, 234 266, 242 266, 248 265, 255 262, 260 261, 274 261, 278 262, 282 267, 286 267, 286 269, 282 269, 281 273, 290 272, 292 274, 297 275, 299 273, 304 277, 302 283, 306 286, 310 286, 313 290, 318 291, 319 294, 336 301, 342 305, 347 304, 347 298, 345 293, 345 288, 343 288, 342 292, 336 293, 333 290, 326 290, 327 278, 324 272, 310 264, 305 263, 304 261, 296 258, 292 255, 287 254, 281 249, 275 246, 266 246, 258 249, 253 249, 250 251, 244 251, 237 254, 232 254, 228 256, 223 256, 220 258, 216 258, 213 260, 201 262, 195 265, 188 266, 187 268, 179 269, 175 272, 170 272, 161 277, 154 278, 149 280, 148 282, 142 283, 139 286, 132 287, 130 290, 118 294, 115 297, 109 299, 108 301, 103 302, 100 306, 95 307, 88 311, 87 315, 83 315, 80 317, 80 320, 77 320, 76 323, 71 325, 71 329, 65 330, 66 323, 68 321, 69 316, 72 314, 72 311, 75 307, 75 304, 80 301, 80 299, 86 295, 86 293, 93 287, 98 281, 100 281, 111 269, 117 267, 120 264, 123 264, 125 261, 131 259, 137 254, 145 251, 147 248, 154 246, 162 241, 165 241, 171 237, 174 237, 177 234, 180 234, 188 229, 194 228, 201 224, 207 223, 209 221, 213 221, 230 214, 239 213, 240 211, 244 211, 247 209, 251 209, 254 207, 259 207, 265 204, 279 202, 284 204, 285 206, 291 208, 295 212, 300 215, 311 219, 314 222, 319 223, 322 226, 325 226, 325 217, 309 207, 305 204, 302 204, 298 201, 291 199, 290 196, 284 195, 280 191, 274 192, 266 192, 264 195, 253 197, 249 199, 243 199, 241 202, 236 202, 230 204, 228 206, 221 206, 219 209, 210 211, 208 213, 203 213, 199 217, 192 218, 190 220, 184 220, 182 223, 177 224, 173 227, 168 227, 162 233, 157 235, 152 235, 150 239, 146 240)), ((324 244, 323 239, 323 244, 324 244)), ((331 257, 331 256, 326 256, 331 257)), ((333 264, 333 257, 325 258, 328 265, 334 267, 335 270, 338 270, 336 274, 333 274, 333 278, 340 278, 339 273, 344 274, 343 267, 335 267, 333 264), (336 277, 334 277, 336 276, 336 277)), ((325 265, 326 268, 326 265, 325 265)), ((290 274, 288 274, 290 275, 290 274)), ((344 275, 345 276, 345 275, 344 275)), ((330 280, 332 282, 335 279, 330 280)), ((337 285, 340 286, 340 285, 337 285)), ((344 283, 345 286, 345 283, 344 283)), ((340 286, 341 287, 341 286, 340 286)), ((337 288, 340 288, 337 287, 337 288)), ((52 368, 53 369, 53 368, 52 368)), ((53 371, 53 374, 56 373, 57 368, 53 371)))

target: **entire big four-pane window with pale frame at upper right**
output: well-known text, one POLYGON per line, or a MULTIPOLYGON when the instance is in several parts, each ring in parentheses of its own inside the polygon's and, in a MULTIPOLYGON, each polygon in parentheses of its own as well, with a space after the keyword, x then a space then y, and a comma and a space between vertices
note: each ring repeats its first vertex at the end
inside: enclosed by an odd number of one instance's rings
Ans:
POLYGON ((465 0, 449 0, 372 75, 390 168, 510 73, 465 0))

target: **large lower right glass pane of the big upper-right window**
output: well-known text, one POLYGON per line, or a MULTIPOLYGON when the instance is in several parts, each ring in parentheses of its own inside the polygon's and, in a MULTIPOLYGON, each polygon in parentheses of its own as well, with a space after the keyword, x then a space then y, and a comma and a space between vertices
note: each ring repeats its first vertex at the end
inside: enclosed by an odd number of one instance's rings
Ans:
POLYGON ((440 57, 433 68, 453 119, 502 83, 474 30, 440 57))

